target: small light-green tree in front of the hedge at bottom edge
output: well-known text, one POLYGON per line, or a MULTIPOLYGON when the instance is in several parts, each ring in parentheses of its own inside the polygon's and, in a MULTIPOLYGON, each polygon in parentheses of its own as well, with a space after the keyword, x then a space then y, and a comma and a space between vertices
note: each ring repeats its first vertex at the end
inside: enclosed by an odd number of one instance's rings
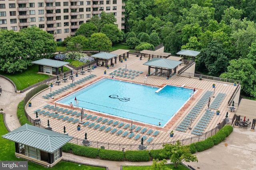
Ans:
POLYGON ((192 155, 189 146, 182 146, 180 141, 176 141, 176 144, 165 144, 164 152, 160 153, 161 156, 167 156, 170 161, 174 163, 174 167, 177 168, 178 164, 182 161, 186 162, 198 162, 196 155, 192 155))

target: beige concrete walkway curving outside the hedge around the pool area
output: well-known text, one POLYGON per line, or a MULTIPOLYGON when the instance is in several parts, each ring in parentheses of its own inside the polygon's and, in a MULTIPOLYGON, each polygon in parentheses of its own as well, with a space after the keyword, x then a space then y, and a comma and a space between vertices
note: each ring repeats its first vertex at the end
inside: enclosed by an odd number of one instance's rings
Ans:
MULTIPOLYGON (((0 77, 0 86, 2 95, 0 96, 0 108, 4 109, 6 114, 6 124, 10 131, 20 127, 16 112, 18 103, 26 96, 25 93, 17 94, 14 92, 14 87, 10 82, 0 77)), ((251 118, 250 118, 251 119, 251 118)), ((231 135, 217 146, 208 149, 204 152, 196 153, 197 162, 184 162, 195 169, 210 169, 210 170, 254 170, 256 167, 256 133, 248 129, 234 129, 231 135)), ((70 161, 81 162, 84 164, 95 164, 108 166, 109 170, 120 170, 120 165, 151 165, 149 162, 117 162, 100 159, 86 158, 63 153, 64 159, 70 161)), ((168 160, 168 162, 170 162, 168 160)))

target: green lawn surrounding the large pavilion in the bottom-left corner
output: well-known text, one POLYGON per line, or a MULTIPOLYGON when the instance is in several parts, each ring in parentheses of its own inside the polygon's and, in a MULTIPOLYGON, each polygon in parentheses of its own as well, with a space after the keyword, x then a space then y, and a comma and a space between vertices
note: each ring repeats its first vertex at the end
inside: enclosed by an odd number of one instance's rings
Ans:
MULTIPOLYGON (((3 114, 0 114, 0 136, 5 135, 8 133, 8 130, 4 126, 4 121, 3 121, 3 114)), ((15 156, 15 146, 13 141, 9 141, 4 138, 0 138, 0 160, 23 160, 21 158, 17 158, 15 156)), ((33 162, 28 161, 28 169, 29 170, 42 170, 42 169, 47 169, 46 167, 42 165, 35 164, 33 162)), ((94 167, 94 166, 85 166, 81 165, 78 166, 78 164, 72 163, 72 162, 66 162, 66 161, 60 161, 58 164, 56 164, 52 170, 104 170, 106 168, 101 168, 101 167, 94 167)))

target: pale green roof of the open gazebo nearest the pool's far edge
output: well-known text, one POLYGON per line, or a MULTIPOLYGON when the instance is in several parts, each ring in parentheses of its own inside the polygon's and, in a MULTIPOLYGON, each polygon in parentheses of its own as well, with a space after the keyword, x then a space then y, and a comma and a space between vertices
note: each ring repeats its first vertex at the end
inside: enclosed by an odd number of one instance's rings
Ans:
POLYGON ((174 69, 181 63, 182 61, 174 61, 174 60, 168 60, 163 58, 154 58, 144 63, 143 65, 174 69))

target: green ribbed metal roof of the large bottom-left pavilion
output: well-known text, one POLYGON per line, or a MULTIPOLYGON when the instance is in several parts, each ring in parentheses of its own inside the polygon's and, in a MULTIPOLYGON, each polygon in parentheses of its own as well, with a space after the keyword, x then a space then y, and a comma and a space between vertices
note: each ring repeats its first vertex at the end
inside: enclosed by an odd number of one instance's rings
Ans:
POLYGON ((27 123, 2 137, 49 153, 54 152, 73 139, 68 135, 28 125, 27 123))

